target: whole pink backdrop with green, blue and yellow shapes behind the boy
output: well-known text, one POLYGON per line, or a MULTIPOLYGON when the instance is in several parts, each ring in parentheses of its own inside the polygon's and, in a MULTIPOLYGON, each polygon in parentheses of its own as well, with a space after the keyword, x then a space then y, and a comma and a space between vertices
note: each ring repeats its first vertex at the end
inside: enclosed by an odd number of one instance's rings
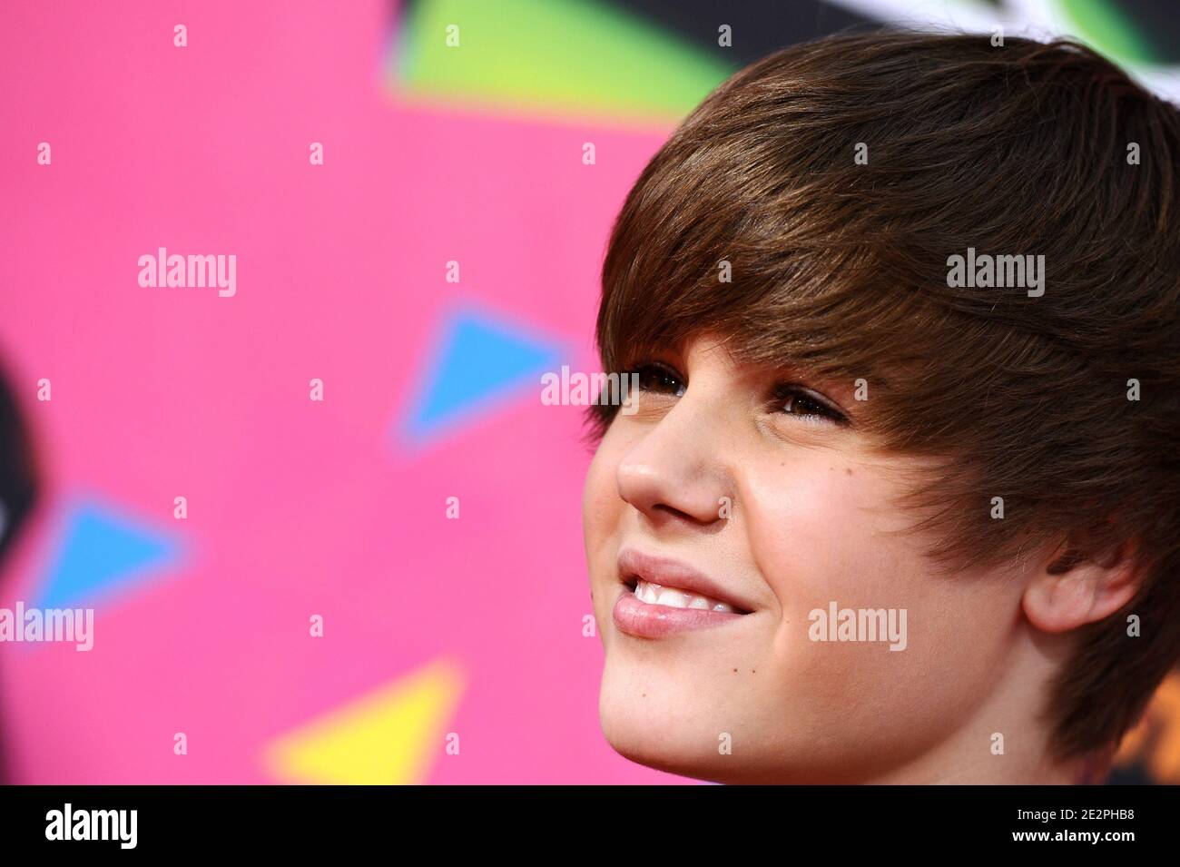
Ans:
MULTIPOLYGON (((1168 0, 0 19, 0 361, 44 475, 0 606, 96 610, 90 652, 0 645, 26 783, 677 781, 598 730, 582 409, 539 400, 595 369, 647 159, 729 72, 880 20, 1031 21, 1180 93, 1168 0), (159 248, 236 294, 140 285, 159 248)), ((1180 780, 1176 720, 1172 681, 1120 779, 1180 780)))

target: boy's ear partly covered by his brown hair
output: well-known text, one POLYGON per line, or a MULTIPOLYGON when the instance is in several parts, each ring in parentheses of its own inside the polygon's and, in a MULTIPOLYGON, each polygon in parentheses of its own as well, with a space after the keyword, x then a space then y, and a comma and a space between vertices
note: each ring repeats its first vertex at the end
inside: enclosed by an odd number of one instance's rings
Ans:
POLYGON ((1109 617, 1139 590, 1134 553, 1134 545, 1123 545, 1100 561, 1068 546, 1032 576, 1021 599, 1024 616, 1044 632, 1068 632, 1109 617))

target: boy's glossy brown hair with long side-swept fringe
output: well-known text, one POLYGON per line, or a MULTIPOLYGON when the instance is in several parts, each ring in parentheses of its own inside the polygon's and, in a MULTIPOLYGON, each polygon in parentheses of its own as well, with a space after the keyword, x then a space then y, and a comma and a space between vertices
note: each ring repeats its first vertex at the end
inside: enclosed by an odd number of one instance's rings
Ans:
MULTIPOLYGON (((1048 697, 1057 757, 1113 750, 1180 658, 1176 166, 1176 107, 1068 40, 786 48, 720 85, 628 195, 603 367, 709 330, 746 361, 863 377, 859 427, 938 467, 906 505, 948 570, 1062 538, 1058 571, 1133 558, 1134 600, 1077 630, 1048 697), (1043 295, 949 285, 969 247, 1043 255, 1043 295)), ((595 436, 616 410, 592 408, 595 436)))

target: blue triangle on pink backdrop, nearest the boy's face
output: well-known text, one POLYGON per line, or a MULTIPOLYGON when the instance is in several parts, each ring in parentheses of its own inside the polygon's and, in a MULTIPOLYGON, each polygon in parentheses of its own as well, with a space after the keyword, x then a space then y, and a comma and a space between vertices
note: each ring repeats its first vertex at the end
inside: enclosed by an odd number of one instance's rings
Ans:
POLYGON ((411 435, 428 438, 529 382, 539 395, 540 374, 560 356, 556 341, 481 311, 459 311, 442 327, 438 356, 409 416, 411 435))

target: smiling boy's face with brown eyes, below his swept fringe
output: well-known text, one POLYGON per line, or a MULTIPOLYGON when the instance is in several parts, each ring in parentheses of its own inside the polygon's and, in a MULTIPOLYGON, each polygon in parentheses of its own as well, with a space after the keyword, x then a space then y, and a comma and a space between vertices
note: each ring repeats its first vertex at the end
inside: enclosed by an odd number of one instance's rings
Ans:
MULTIPOLYGON (((784 396, 781 372, 740 366, 716 340, 655 361, 671 379, 644 375, 583 499, 611 746, 720 782, 969 780, 1003 760, 997 733, 1009 761, 1038 755, 1043 741, 1029 741, 1049 670, 1015 665, 1037 657, 1018 628, 1022 576, 936 576, 922 553, 932 540, 893 506, 898 471, 917 465, 873 454, 817 403, 784 396), (719 592, 653 605, 629 586, 683 586, 689 572, 719 592), (814 641, 839 637, 839 615, 832 626, 811 616, 832 603, 893 610, 894 639, 814 641)), ((872 406, 851 382, 801 385, 852 414, 872 406)))

